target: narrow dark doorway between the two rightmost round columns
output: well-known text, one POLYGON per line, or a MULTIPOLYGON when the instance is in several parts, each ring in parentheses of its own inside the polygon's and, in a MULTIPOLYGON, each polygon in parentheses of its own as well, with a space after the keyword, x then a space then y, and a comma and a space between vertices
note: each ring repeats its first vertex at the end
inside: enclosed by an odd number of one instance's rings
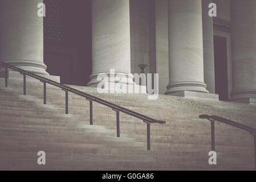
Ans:
POLYGON ((227 82, 227 40, 214 36, 215 88, 221 101, 229 100, 227 82))

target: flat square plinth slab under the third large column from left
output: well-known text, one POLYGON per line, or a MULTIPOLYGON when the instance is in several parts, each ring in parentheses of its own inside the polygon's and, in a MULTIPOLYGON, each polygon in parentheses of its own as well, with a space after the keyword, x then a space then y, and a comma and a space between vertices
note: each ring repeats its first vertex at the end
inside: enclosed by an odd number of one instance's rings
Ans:
POLYGON ((212 93, 202 93, 202 92, 192 92, 192 91, 180 91, 168 94, 169 96, 178 96, 178 97, 188 97, 188 98, 204 98, 207 100, 219 100, 218 94, 212 93))

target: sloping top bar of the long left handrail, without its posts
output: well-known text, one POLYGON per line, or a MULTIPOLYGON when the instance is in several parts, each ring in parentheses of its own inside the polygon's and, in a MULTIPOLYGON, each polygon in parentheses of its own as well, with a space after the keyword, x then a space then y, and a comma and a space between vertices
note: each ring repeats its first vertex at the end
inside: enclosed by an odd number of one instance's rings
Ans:
POLYGON ((17 68, 17 67, 14 67, 13 65, 10 65, 10 64, 6 64, 6 63, 3 63, 3 62, 0 62, 0 64, 2 64, 4 67, 9 67, 10 69, 14 69, 15 71, 18 71, 18 72, 23 72, 25 73, 26 75, 30 76, 30 77, 33 77, 33 78, 36 78, 40 81, 45 81, 47 82, 48 84, 51 84, 51 85, 54 85, 58 88, 61 88, 61 89, 65 89, 65 90, 68 90, 69 92, 71 93, 75 93, 75 94, 78 94, 79 96, 82 96, 82 97, 85 97, 85 98, 88 98, 92 101, 95 101, 95 102, 98 102, 99 104, 102 104, 102 105, 105 105, 105 106, 108 106, 108 107, 111 107, 112 109, 116 109, 116 110, 119 110, 123 113, 126 113, 126 114, 129 114, 129 115, 132 115, 133 117, 136 117, 136 118, 139 118, 139 119, 142 119, 142 120, 145 120, 145 121, 148 121, 150 123, 160 123, 160 124, 163 124, 165 123, 164 121, 157 121, 153 118, 149 118, 143 114, 140 114, 140 113, 136 113, 135 111, 132 111, 132 110, 129 110, 129 109, 125 109, 124 107, 121 107, 121 106, 118 106, 118 105, 115 105, 115 104, 112 104, 111 102, 108 102, 108 101, 104 101, 104 100, 101 100, 100 98, 97 98, 95 96, 91 96, 90 94, 87 94, 87 93, 84 93, 84 92, 81 92, 80 90, 76 90, 74 88, 71 88, 69 86, 66 86, 66 85, 62 85, 62 84, 59 84, 58 82, 55 82, 55 81, 52 81, 48 78, 44 78, 42 76, 39 76, 39 75, 35 75, 34 73, 29 73, 21 68, 17 68))

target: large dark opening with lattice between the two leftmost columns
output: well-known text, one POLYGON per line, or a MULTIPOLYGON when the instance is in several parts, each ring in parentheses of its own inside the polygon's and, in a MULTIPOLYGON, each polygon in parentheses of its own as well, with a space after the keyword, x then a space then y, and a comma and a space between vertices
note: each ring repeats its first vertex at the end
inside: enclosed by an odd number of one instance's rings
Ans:
POLYGON ((62 84, 85 86, 92 72, 91 1, 44 0, 44 63, 62 84))

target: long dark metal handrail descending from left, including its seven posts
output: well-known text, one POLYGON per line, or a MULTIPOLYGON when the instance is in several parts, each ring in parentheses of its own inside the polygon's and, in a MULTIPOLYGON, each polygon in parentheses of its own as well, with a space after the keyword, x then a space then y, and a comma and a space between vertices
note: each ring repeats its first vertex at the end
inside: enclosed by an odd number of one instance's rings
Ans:
POLYGON ((150 124, 151 123, 159 123, 164 124, 165 121, 156 120, 150 117, 147 117, 146 115, 137 113, 135 111, 126 109, 124 107, 121 107, 119 105, 113 104, 111 102, 102 100, 101 98, 92 96, 90 94, 81 92, 80 90, 71 88, 70 86, 66 86, 63 84, 60 84, 56 81, 50 80, 48 78, 36 75, 34 73, 30 73, 25 71, 24 69, 14 67, 11 64, 4 63, 0 61, 0 65, 5 68, 5 86, 8 86, 8 69, 12 69, 14 71, 17 71, 23 75, 23 94, 26 96, 26 76, 30 76, 32 78, 35 78, 41 82, 43 82, 43 104, 46 104, 46 84, 54 85, 60 89, 62 89, 64 92, 66 92, 66 114, 68 114, 68 92, 74 93, 78 96, 86 98, 88 101, 90 101, 90 125, 93 125, 92 120, 92 102, 97 102, 101 105, 105 105, 107 107, 110 107, 114 111, 116 111, 116 126, 117 126, 117 137, 120 137, 120 121, 119 121, 119 114, 120 112, 131 115, 133 117, 141 119, 143 122, 147 123, 147 148, 148 150, 151 150, 151 144, 150 144, 150 124))

